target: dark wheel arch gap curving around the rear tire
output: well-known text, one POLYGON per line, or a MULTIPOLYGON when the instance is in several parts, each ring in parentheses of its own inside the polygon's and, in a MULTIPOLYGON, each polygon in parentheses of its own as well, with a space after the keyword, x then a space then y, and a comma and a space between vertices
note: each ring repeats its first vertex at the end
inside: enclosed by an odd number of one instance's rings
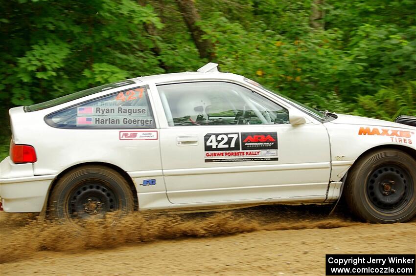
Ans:
POLYGON ((76 168, 79 167, 84 167, 84 166, 89 166, 89 165, 101 165, 104 167, 108 167, 110 169, 116 170, 124 179, 126 179, 127 183, 129 184, 130 190, 133 193, 133 199, 134 199, 134 210, 137 211, 138 210, 138 206, 139 206, 139 202, 138 202, 138 198, 137 198, 137 190, 136 190, 136 186, 133 182, 133 179, 129 176, 129 174, 121 169, 120 167, 111 164, 111 163, 106 163, 106 162, 85 162, 85 163, 79 163, 76 165, 73 165, 63 171, 61 171, 52 181, 52 183, 49 186, 49 189, 47 191, 47 195, 46 195, 46 199, 44 202, 44 208, 42 210, 42 212, 47 212, 48 206, 49 206, 49 198, 50 198, 50 194, 52 193, 53 189, 55 188, 56 184, 58 183, 59 179, 62 178, 63 175, 65 175, 66 173, 68 173, 71 170, 74 170, 76 168))

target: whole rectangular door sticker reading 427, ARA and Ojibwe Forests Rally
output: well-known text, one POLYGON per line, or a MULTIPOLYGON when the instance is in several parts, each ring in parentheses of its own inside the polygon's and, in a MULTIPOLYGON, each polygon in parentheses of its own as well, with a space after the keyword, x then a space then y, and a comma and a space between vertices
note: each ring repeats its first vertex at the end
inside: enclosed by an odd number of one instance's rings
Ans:
POLYGON ((277 132, 207 133, 205 162, 278 161, 277 132))

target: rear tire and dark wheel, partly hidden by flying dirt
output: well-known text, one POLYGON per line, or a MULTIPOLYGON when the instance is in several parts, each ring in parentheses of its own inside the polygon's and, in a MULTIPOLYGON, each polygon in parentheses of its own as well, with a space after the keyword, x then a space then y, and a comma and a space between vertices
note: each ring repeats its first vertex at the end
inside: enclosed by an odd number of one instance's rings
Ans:
POLYGON ((102 218, 108 212, 133 209, 133 194, 126 179, 116 170, 99 165, 69 171, 59 179, 49 198, 49 214, 59 220, 82 222, 102 218))

